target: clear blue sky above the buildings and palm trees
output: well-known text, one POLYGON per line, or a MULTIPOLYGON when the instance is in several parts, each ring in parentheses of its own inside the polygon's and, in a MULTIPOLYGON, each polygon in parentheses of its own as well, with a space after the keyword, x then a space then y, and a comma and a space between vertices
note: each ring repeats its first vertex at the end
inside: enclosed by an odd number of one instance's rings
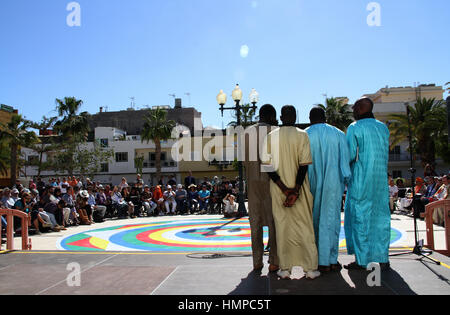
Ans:
POLYGON ((370 27, 360 0, 0 0, 0 103, 28 119, 75 96, 97 113, 144 105, 184 106, 222 126, 216 96, 239 83, 260 104, 297 107, 299 122, 324 96, 414 82, 450 81, 448 0, 385 0, 370 27), (249 48, 244 58, 240 51, 249 48), (185 95, 190 93, 190 98, 185 95))

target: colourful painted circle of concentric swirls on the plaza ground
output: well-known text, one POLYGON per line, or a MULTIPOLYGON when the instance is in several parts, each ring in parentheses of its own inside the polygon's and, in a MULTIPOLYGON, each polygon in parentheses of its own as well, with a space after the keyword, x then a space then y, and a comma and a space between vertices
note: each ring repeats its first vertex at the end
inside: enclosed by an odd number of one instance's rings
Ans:
MULTIPOLYGON (((402 233, 392 229, 391 244, 402 233)), ((340 247, 345 247, 341 230, 340 247)), ((268 230, 264 229, 267 244, 268 230)), ((65 237, 58 247, 68 251, 249 252, 248 219, 187 219, 95 229, 65 237)))

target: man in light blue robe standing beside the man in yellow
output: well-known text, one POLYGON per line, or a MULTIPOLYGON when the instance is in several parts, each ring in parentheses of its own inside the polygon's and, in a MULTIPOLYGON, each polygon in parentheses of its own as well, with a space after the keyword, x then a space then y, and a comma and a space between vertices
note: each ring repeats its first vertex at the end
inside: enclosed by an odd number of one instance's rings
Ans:
POLYGON ((326 124, 325 110, 310 112, 312 126, 306 129, 313 164, 308 176, 314 196, 313 222, 319 252, 319 271, 338 271, 339 235, 341 232, 342 196, 348 183, 350 157, 345 133, 326 124))

